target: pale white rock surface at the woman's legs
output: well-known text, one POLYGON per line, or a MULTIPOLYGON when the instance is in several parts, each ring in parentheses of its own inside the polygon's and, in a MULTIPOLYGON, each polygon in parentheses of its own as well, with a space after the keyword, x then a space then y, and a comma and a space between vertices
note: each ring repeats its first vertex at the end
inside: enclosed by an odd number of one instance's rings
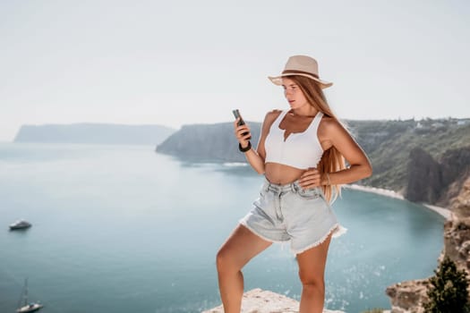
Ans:
MULTIPOLYGON (((259 288, 244 292, 241 313, 293 313, 299 311, 299 301, 276 292, 259 288)), ((222 306, 202 313, 224 313, 222 306)), ((323 313, 344 313, 343 311, 323 310, 323 313)))

